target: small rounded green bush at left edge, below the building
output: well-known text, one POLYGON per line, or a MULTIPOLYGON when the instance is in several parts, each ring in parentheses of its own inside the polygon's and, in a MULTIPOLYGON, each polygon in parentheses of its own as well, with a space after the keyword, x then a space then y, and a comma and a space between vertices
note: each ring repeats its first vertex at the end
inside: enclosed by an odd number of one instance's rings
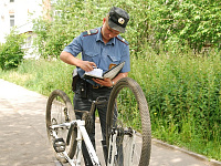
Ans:
POLYGON ((10 70, 17 68, 23 60, 24 34, 18 34, 14 29, 6 37, 6 43, 0 45, 0 68, 10 70))

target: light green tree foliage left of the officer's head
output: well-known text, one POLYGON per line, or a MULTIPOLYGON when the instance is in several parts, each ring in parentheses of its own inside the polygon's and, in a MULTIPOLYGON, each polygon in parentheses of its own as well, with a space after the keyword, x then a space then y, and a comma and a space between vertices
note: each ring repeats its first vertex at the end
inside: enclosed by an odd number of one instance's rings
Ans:
POLYGON ((74 37, 99 24, 95 18, 101 14, 101 9, 91 3, 80 0, 57 0, 51 11, 51 20, 44 18, 34 20, 34 32, 38 34, 34 43, 42 56, 57 58, 74 37))

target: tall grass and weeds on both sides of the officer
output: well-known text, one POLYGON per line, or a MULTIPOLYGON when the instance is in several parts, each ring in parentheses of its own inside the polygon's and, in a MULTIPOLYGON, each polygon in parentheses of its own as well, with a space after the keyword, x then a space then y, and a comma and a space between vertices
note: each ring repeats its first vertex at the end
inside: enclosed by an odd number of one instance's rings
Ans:
MULTIPOLYGON (((143 87, 151 116, 152 136, 221 160, 221 58, 192 52, 131 52, 131 72, 143 87)), ((0 77, 43 95, 63 90, 72 98, 74 66, 56 61, 25 60, 0 77)))

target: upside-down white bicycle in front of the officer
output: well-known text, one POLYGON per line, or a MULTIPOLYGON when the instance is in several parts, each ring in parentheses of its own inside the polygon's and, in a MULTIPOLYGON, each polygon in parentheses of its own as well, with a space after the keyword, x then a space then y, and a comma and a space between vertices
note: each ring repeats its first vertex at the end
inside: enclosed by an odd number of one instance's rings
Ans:
POLYGON ((84 120, 75 118, 73 105, 63 91, 51 93, 46 104, 46 131, 56 158, 61 163, 81 166, 84 139, 93 165, 101 165, 87 134, 96 104, 107 104, 106 165, 149 165, 151 126, 148 105, 139 84, 129 77, 117 82, 108 101, 103 97, 93 101, 84 120))

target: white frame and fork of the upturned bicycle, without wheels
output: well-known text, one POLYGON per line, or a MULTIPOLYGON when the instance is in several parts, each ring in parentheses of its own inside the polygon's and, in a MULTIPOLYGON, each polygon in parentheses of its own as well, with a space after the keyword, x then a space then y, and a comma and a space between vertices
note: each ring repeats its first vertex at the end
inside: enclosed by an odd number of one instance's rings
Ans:
MULTIPOLYGON (((94 166, 101 166, 98 157, 96 155, 96 152, 94 149, 94 146, 90 139, 90 136, 85 128, 85 121, 76 120, 72 121, 71 123, 63 123, 59 125, 52 125, 52 136, 54 138, 59 138, 55 129, 61 127, 71 127, 72 124, 75 124, 77 127, 77 137, 76 137, 76 157, 74 159, 71 159, 66 152, 62 152, 61 154, 66 158, 69 164, 71 166, 81 166, 82 162, 82 141, 84 139, 87 152, 90 154, 91 160, 94 166)), ((114 166, 115 156, 117 155, 117 146, 116 146, 116 138, 117 138, 117 131, 114 132, 114 134, 109 137, 109 151, 108 151, 108 157, 107 157, 107 166, 114 166)), ((124 138, 127 138, 127 143, 129 146, 124 149, 124 165, 126 166, 133 166, 133 155, 135 149, 135 132, 133 131, 131 135, 124 135, 124 138)))

